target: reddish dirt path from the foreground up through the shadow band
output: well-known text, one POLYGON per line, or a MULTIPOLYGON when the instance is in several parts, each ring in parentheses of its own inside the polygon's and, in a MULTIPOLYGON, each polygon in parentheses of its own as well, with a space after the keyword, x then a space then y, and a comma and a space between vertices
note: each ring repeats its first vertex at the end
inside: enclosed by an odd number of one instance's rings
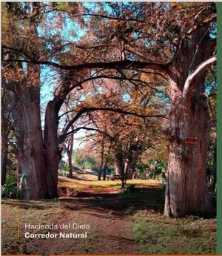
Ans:
MULTIPOLYGON (((60 207, 63 211, 54 223, 58 226, 62 223, 71 225, 86 223, 90 229, 69 229, 65 232, 87 232, 87 239, 47 240, 41 245, 44 255, 55 252, 64 254, 138 253, 131 232, 131 217, 118 211, 118 193, 119 191, 112 188, 103 187, 103 191, 98 191, 86 185, 77 197, 61 200, 60 207), (101 196, 104 197, 100 202, 98 198, 101 196)), ((64 232, 64 230, 58 230, 58 232, 64 232)))

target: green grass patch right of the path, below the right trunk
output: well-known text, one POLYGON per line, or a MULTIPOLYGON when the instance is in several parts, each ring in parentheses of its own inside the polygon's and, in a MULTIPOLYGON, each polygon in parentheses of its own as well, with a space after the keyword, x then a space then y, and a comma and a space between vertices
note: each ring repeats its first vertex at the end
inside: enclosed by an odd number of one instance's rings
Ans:
POLYGON ((132 217, 132 234, 141 254, 214 254, 215 219, 168 218, 152 211, 132 217))

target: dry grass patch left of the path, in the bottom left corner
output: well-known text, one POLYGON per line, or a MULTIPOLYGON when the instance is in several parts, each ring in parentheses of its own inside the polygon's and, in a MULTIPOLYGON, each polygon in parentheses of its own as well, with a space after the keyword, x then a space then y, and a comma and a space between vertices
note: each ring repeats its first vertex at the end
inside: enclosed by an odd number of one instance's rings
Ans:
MULTIPOLYGON (((38 249, 33 246, 32 240, 26 240, 26 243, 22 243, 21 240, 18 240, 18 217, 19 222, 22 223, 21 230, 24 231, 24 223, 50 224, 53 222, 54 218, 58 218, 63 212, 63 209, 59 207, 58 200, 1 200, 1 203, 2 254, 15 252, 15 250, 16 253, 25 255, 38 252, 38 249)), ((39 231, 36 230, 36 232, 39 231)), ((41 246, 41 240, 39 240, 38 243, 39 246, 41 246)))

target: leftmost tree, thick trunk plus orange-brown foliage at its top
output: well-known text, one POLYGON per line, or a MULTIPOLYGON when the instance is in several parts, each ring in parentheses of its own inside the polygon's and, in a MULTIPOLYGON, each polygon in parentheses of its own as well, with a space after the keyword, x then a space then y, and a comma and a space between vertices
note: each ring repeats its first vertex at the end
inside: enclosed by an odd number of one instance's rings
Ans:
MULTIPOLYGON (((26 19, 26 24, 17 19, 16 13, 22 11, 19 4, 7 3, 3 5, 4 33, 11 30, 15 32, 12 41, 17 45, 28 48, 34 58, 39 58, 39 45, 41 42, 36 38, 36 26, 38 19, 39 4, 30 4, 30 16, 26 19), (13 13, 13 14, 12 14, 13 13), (36 16, 35 16, 36 13, 36 16), (24 29, 29 30, 29 41, 22 42, 19 33, 24 29), (20 30, 18 30, 20 27, 20 30), (30 45, 30 42, 32 45, 30 45)), ((11 56, 19 56, 16 53, 7 53, 11 56)), ((24 198, 38 199, 46 197, 47 184, 44 178, 46 166, 44 165, 44 146, 41 133, 40 119, 40 68, 36 65, 27 65, 26 72, 21 63, 4 66, 3 85, 7 91, 8 102, 10 102, 14 132, 17 138, 19 149, 18 160, 21 171, 27 174, 27 185, 24 188, 24 198), (13 70, 13 75, 9 73, 13 70), (8 72, 8 73, 7 73, 8 72)), ((12 74, 12 73, 11 73, 12 74)))

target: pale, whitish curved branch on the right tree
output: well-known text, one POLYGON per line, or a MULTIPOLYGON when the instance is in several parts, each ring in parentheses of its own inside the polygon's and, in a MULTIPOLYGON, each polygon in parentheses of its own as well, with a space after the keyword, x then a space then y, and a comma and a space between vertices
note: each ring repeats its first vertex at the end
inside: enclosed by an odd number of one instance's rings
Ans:
POLYGON ((201 65, 199 65, 198 68, 196 68, 196 70, 187 77, 185 85, 184 85, 184 91, 183 91, 184 99, 186 99, 190 89, 192 88, 192 84, 193 84, 194 80, 198 76, 201 76, 202 73, 205 72, 207 68, 211 67, 212 65, 215 65, 216 60, 217 60, 216 56, 212 56, 211 58, 206 59, 205 62, 202 62, 201 65))

